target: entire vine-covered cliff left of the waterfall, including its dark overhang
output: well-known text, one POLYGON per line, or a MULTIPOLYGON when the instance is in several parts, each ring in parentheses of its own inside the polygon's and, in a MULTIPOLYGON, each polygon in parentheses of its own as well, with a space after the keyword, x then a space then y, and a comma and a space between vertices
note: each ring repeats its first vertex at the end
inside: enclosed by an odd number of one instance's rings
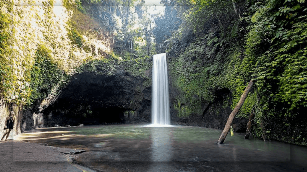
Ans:
MULTIPOLYGON (((68 124, 68 120, 59 123, 52 115, 49 116, 50 114, 60 115, 59 119, 81 116, 83 119, 86 116, 96 118, 98 111, 88 106, 97 108, 100 105, 101 108, 114 108, 117 114, 124 114, 126 122, 133 123, 133 118, 136 118, 137 122, 149 121, 148 90, 151 85, 151 65, 148 64, 151 64, 151 59, 122 60, 114 55, 110 48, 112 36, 105 32, 101 23, 87 14, 80 13, 73 0, 0 1, 0 17, 2 128, 4 119, 11 110, 17 114, 18 121, 12 134, 18 134, 21 130, 51 124, 68 124), (137 65, 133 65, 135 62, 137 65), (104 99, 103 95, 95 95, 91 89, 84 87, 73 89, 77 93, 69 92, 71 88, 78 87, 75 78, 79 78, 80 82, 87 80, 85 84, 88 84, 88 87, 94 84, 97 90, 112 88, 114 92, 120 89, 126 89, 127 92, 115 92, 119 99, 104 99), (106 88, 99 85, 102 81, 107 83, 106 88), (65 92, 67 90, 68 92, 65 92), (84 100, 73 97, 80 95, 80 92, 91 92, 92 95, 100 97, 98 100, 90 96, 85 96, 84 100), (128 95, 125 97, 125 94, 128 95), (65 97, 67 95, 76 98, 79 101, 76 102, 81 104, 71 103, 76 108, 74 110, 67 106, 66 111, 63 107, 58 107, 61 101, 75 100, 65 97), (103 100, 109 104, 103 104, 103 100), (85 106, 84 103, 94 105, 85 106), (112 103, 114 105, 110 105, 112 103), (55 108, 54 111, 50 110, 52 107, 55 108), (147 116, 139 117, 140 114, 147 116), (65 115, 72 116, 64 117, 65 115)), ((109 113, 109 116, 112 116, 112 113, 109 113)), ((4 131, 0 132, 2 134, 4 131)))

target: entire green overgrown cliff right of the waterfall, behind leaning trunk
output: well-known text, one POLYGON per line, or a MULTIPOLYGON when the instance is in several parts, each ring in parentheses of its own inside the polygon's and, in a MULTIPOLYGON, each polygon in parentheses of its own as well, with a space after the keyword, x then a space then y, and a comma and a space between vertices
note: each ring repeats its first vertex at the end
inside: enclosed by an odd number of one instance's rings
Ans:
POLYGON ((235 120, 254 112, 253 136, 307 145, 306 2, 227 3, 192 5, 166 41, 173 118, 223 127, 253 78, 235 120))

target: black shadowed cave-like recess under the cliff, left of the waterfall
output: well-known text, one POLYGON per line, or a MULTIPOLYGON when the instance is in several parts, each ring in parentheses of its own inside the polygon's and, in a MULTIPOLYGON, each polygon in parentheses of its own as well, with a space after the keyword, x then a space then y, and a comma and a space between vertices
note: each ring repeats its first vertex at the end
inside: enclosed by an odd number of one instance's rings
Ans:
POLYGON ((45 127, 149 123, 151 87, 144 88, 143 81, 125 72, 78 74, 43 111, 45 127))

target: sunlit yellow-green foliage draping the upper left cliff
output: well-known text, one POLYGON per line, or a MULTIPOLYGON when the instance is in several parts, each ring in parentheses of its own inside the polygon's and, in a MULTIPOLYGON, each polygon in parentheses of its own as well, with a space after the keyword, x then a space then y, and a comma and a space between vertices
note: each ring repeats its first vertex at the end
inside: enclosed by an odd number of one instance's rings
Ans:
MULTIPOLYGON (((32 103, 44 104, 56 97, 78 66, 89 59, 103 59, 102 54, 110 51, 92 32, 84 36, 80 27, 68 26, 68 21, 74 21, 70 17, 76 16, 74 10, 78 10, 72 0, 64 4, 70 13, 65 10, 54 13, 58 6, 54 6, 53 0, 44 1, 42 6, 32 6, 32 1, 0 1, 0 95, 6 103, 30 107, 32 103), (85 47, 94 53, 84 51, 85 47)), ((80 11, 78 14, 93 23, 94 19, 80 11)), ((93 25, 97 27, 97 23, 90 26, 93 25)))

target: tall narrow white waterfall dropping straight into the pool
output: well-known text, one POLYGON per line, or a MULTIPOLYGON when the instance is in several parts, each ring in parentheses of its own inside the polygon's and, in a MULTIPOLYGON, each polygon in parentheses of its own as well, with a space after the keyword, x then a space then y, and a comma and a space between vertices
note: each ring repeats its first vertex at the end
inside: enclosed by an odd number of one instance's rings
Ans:
POLYGON ((153 55, 151 121, 153 125, 170 125, 169 83, 165 53, 153 55))

